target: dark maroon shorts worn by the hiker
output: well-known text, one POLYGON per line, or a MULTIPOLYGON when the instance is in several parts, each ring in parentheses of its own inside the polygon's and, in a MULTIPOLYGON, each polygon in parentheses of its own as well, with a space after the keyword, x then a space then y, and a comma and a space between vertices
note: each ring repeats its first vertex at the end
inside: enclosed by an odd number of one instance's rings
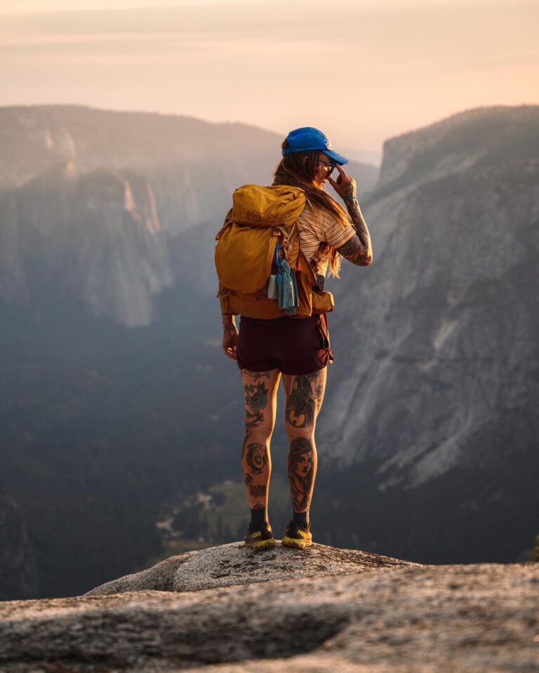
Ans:
POLYGON ((333 360, 326 315, 261 320, 241 317, 237 363, 240 369, 309 374, 333 360))

